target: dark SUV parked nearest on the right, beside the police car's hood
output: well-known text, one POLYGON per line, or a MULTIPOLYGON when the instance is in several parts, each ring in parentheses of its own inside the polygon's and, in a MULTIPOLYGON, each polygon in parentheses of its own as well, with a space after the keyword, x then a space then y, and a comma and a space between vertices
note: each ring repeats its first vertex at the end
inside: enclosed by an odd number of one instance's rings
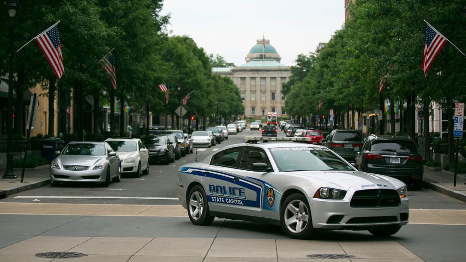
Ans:
POLYGON ((359 170, 393 177, 415 190, 422 187, 422 157, 409 136, 369 135, 356 155, 359 170))

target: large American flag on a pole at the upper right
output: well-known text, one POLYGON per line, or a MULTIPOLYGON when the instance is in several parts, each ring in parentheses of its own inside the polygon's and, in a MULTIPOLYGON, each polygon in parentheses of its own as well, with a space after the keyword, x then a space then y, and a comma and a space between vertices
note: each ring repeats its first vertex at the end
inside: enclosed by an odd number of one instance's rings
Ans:
POLYGON ((424 38, 424 58, 422 59, 422 70, 424 77, 427 76, 430 66, 439 54, 443 45, 446 43, 446 38, 437 31, 434 27, 426 23, 426 34, 424 38))

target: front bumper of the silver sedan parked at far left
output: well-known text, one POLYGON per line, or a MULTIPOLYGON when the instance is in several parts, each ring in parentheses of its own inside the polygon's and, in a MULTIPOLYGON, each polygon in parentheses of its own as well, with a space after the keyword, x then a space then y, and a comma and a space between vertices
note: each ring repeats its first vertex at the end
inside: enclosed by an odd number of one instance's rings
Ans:
POLYGON ((107 168, 92 170, 71 171, 65 170, 62 166, 61 169, 49 168, 50 181, 52 182, 99 182, 104 183, 107 174, 107 168))

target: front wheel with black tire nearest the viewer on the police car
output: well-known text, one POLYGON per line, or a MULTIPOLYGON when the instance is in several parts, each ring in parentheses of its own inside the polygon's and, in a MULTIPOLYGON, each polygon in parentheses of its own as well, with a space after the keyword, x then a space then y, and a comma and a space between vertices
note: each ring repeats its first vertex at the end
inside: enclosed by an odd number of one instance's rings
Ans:
POLYGON ((308 200, 301 193, 288 196, 280 208, 280 224, 285 234, 291 238, 305 239, 315 232, 312 227, 311 208, 308 200), (295 210, 296 213, 288 209, 295 210), (287 219, 295 218, 295 221, 286 224, 287 219))

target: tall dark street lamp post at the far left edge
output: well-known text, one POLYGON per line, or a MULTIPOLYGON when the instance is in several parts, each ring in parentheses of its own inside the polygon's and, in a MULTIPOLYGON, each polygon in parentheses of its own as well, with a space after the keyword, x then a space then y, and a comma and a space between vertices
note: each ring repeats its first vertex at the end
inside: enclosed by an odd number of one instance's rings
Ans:
MULTIPOLYGON (((16 15, 18 10, 18 3, 16 0, 9 0, 5 6, 8 10, 8 16, 11 17, 8 22, 9 27, 9 50, 8 53, 8 116, 6 117, 6 132, 8 136, 6 144, 6 171, 2 178, 7 179, 16 179, 15 173, 13 171, 13 56, 15 53, 13 47, 13 33, 14 33, 14 21, 13 17, 16 15)), ((20 99, 17 97, 16 99, 20 99)))

